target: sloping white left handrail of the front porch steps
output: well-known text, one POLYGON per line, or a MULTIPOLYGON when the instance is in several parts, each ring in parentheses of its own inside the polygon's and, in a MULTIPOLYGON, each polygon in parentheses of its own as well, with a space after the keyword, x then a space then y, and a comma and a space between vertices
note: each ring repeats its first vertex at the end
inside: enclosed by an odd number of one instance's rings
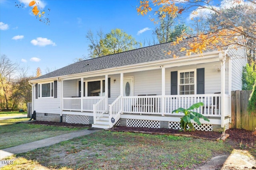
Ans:
POLYGON ((98 103, 92 105, 94 124, 96 123, 96 120, 99 120, 100 117, 102 117, 103 114, 107 112, 106 101, 105 101, 106 98, 107 98, 107 96, 102 98, 98 103))

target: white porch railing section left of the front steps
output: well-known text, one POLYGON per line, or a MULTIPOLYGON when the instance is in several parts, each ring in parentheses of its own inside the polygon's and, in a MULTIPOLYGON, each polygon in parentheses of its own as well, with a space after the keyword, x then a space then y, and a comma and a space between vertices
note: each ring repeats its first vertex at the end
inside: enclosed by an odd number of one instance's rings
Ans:
POLYGON ((62 109, 68 111, 93 111, 93 105, 98 103, 102 97, 85 98, 63 98, 62 109), (82 104, 81 104, 82 101, 82 104))

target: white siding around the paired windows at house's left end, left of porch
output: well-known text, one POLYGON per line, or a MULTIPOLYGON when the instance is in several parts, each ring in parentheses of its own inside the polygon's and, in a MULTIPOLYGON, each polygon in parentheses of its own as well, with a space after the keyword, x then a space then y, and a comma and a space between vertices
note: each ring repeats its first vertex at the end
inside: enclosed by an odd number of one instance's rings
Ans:
MULTIPOLYGON (((34 94, 36 88, 34 87, 34 94)), ((60 114, 61 82, 57 81, 57 98, 34 98, 34 110, 37 113, 54 113, 60 114)))

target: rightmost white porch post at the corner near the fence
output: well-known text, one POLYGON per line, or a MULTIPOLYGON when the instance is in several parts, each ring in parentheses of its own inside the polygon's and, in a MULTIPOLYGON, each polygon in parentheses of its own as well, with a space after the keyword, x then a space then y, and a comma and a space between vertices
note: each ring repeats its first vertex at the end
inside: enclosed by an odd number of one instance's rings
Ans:
POLYGON ((220 113, 221 113, 221 127, 224 127, 224 119, 225 119, 225 113, 224 113, 224 107, 225 107, 225 56, 223 56, 222 53, 219 53, 221 61, 221 68, 220 68, 220 74, 221 74, 221 96, 220 96, 220 113))

